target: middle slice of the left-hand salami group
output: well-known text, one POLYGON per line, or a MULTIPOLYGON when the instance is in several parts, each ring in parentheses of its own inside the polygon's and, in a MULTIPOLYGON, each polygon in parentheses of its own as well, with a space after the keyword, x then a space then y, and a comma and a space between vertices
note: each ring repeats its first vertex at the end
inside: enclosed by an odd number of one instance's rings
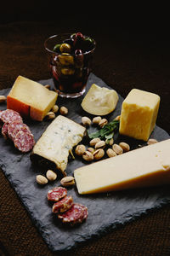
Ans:
POLYGON ((19 131, 30 132, 28 125, 24 124, 21 120, 16 120, 8 124, 8 137, 14 141, 15 136, 19 131))

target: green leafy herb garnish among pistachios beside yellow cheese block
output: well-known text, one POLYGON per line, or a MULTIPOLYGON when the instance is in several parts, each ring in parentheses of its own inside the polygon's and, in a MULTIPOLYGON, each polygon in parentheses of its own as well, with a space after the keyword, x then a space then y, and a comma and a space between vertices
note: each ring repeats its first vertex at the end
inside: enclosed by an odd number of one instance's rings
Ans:
POLYGON ((91 139, 99 137, 100 139, 105 139, 107 140, 107 142, 109 142, 111 138, 114 137, 115 131, 117 131, 118 128, 119 120, 113 120, 109 124, 101 128, 99 131, 90 134, 88 133, 88 137, 91 139))

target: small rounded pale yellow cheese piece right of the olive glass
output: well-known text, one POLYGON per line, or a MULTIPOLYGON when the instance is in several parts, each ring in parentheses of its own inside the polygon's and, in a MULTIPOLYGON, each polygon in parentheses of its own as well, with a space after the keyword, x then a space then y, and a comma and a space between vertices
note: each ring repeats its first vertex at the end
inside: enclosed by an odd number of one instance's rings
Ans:
POLYGON ((94 115, 105 115, 111 113, 116 108, 118 99, 116 90, 92 84, 87 95, 82 100, 82 108, 94 115))

